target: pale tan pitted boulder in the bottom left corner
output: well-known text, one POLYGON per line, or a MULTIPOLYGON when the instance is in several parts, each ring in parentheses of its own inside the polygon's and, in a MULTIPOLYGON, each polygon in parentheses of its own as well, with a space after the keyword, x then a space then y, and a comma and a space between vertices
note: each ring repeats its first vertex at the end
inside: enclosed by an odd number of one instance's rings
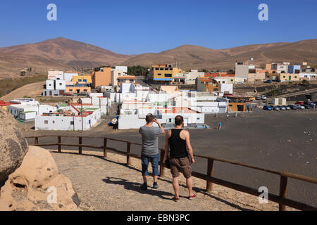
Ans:
POLYGON ((48 150, 30 146, 22 165, 1 188, 1 210, 79 210, 70 180, 58 173, 48 150), (56 201, 52 194, 56 193, 56 201))

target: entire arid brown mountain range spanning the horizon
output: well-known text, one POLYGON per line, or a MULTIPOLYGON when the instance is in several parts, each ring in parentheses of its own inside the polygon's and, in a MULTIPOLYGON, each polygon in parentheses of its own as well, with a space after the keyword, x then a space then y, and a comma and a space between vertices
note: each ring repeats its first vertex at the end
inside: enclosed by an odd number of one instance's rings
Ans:
POLYGON ((35 44, 23 44, 0 48, 0 78, 15 77, 25 68, 46 74, 50 69, 94 68, 101 65, 144 65, 171 63, 176 60, 182 69, 229 70, 235 60, 263 66, 265 63, 306 61, 317 64, 317 39, 279 42, 273 44, 252 44, 230 49, 208 49, 201 46, 183 45, 160 53, 122 55, 97 46, 56 38, 35 44))

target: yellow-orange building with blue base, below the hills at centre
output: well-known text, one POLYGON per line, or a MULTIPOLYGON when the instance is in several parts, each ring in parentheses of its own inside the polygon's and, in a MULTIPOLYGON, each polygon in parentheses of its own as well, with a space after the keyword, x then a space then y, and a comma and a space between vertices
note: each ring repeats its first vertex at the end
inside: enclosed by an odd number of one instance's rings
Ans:
POLYGON ((169 64, 152 65, 151 79, 154 84, 169 84, 182 70, 169 64))

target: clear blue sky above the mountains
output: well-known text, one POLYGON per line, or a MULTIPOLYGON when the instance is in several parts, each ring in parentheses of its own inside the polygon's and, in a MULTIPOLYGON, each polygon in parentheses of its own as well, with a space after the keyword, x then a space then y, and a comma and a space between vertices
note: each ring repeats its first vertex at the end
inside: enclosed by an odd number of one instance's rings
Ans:
POLYGON ((116 53, 183 44, 225 49, 317 38, 316 0, 28 0, 0 2, 0 47, 65 37, 116 53), (57 21, 46 6, 57 6, 57 21), (268 5, 260 21, 259 4, 268 5))

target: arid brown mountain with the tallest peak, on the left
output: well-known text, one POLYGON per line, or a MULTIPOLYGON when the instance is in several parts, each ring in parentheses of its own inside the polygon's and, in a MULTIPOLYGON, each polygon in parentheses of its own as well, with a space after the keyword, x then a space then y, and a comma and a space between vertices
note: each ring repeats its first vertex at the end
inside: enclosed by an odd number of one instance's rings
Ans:
POLYGON ((116 65, 130 57, 59 37, 35 44, 0 48, 0 75, 18 75, 24 68, 33 68, 36 72, 46 72, 49 69, 116 65))

